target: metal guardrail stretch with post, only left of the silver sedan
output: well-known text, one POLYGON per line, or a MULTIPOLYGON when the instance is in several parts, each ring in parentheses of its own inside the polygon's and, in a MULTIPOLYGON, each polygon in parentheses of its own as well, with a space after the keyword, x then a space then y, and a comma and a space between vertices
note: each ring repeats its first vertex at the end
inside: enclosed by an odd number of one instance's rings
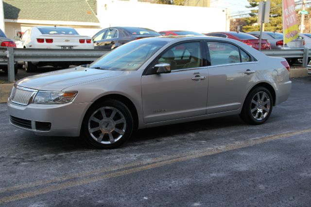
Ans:
POLYGON ((77 49, 0 49, 0 62, 8 62, 8 81, 14 82, 14 62, 18 61, 94 61, 110 50, 77 49))

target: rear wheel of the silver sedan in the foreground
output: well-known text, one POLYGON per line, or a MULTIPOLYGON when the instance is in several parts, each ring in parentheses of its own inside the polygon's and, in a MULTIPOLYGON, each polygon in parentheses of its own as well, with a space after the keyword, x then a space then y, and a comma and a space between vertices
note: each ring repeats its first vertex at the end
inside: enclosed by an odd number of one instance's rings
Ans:
POLYGON ((260 86, 253 89, 244 101, 242 112, 240 114, 241 119, 246 123, 253 125, 264 123, 271 115, 273 101, 272 95, 267 88, 260 86), (256 102, 257 104, 255 104, 256 102))

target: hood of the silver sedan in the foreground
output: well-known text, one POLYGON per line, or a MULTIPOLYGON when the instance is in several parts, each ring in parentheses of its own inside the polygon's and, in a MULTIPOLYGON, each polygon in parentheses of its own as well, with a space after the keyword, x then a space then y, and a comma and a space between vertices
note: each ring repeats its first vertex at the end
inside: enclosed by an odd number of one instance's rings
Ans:
POLYGON ((57 70, 26 77, 17 81, 16 84, 17 86, 37 90, 61 91, 69 86, 117 76, 123 72, 124 71, 90 69, 79 66, 72 69, 57 70))

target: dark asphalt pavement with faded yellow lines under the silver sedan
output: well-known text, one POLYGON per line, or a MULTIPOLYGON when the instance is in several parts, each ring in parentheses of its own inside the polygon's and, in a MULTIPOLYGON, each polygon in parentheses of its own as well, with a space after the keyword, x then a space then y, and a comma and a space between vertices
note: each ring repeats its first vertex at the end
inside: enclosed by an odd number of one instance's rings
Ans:
POLYGON ((311 78, 263 125, 238 116, 139 130, 119 149, 39 137, 0 104, 3 206, 309 206, 311 78))

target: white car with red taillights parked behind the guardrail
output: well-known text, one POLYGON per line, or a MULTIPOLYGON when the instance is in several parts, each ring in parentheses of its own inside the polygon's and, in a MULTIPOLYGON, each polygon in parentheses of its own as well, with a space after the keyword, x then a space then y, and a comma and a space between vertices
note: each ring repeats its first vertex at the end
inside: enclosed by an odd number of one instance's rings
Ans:
MULTIPOLYGON (((17 48, 35 49, 94 49, 90 36, 79 35, 71 27, 32 27, 16 41, 17 48)), ((37 66, 62 66, 70 62, 25 62, 25 70, 33 72, 37 66)))

